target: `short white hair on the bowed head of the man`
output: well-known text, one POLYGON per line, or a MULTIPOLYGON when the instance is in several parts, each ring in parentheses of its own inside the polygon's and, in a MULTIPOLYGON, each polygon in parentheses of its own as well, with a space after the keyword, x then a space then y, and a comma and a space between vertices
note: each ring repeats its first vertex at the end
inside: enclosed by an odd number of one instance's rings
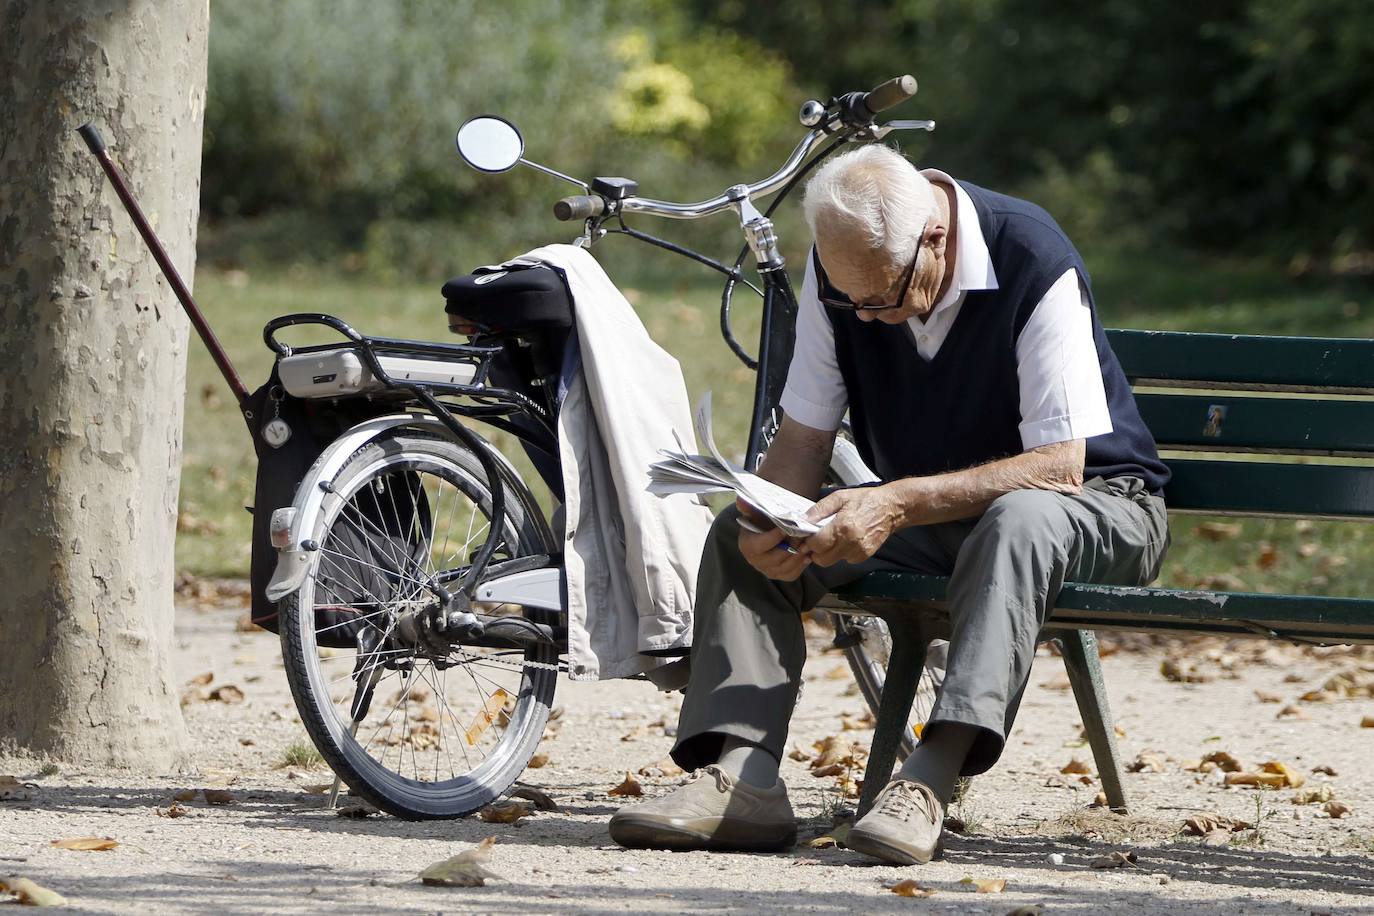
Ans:
POLYGON ((807 183, 802 210, 812 238, 838 232, 851 253, 867 247, 893 264, 915 257, 921 232, 940 213, 926 176, 879 144, 842 152, 820 166, 807 183))

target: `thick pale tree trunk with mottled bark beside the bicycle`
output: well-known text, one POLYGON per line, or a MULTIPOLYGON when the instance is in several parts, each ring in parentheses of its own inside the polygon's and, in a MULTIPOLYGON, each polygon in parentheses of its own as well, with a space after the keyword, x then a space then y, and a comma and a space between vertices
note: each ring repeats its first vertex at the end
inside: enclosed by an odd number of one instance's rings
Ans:
POLYGON ((207 0, 0 0, 0 750, 168 772, 187 320, 76 128, 195 265, 207 0))

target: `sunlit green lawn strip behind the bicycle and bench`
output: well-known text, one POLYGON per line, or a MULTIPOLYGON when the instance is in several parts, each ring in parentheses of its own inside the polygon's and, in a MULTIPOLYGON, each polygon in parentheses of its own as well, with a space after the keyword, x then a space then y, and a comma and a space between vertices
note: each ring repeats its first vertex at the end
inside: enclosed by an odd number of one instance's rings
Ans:
MULTIPOLYGON (((753 397, 753 374, 720 339, 719 286, 686 261, 675 275, 650 276, 627 258, 643 251, 632 242, 603 243, 613 279, 621 282, 649 332, 679 358, 695 402, 713 391, 716 437, 735 452, 753 397)), ((654 264, 675 262, 651 255, 654 264)), ((1099 253, 1087 258, 1107 327, 1319 336, 1374 336, 1374 288, 1334 280, 1294 279, 1249 262, 1191 254, 1099 253)), ((464 266, 455 260, 455 273, 464 266)), ((202 269, 196 295, 249 387, 267 378, 271 353, 262 324, 286 312, 327 312, 364 332, 449 339, 438 287, 444 277, 381 283, 313 269, 218 272, 202 269)), ((758 309, 739 297, 739 339, 753 349, 758 309)), ((327 339, 297 332, 295 342, 327 339)), ((507 455, 518 449, 492 437, 507 455)), ((518 456, 521 460, 523 456, 518 456)), ((518 461, 519 463, 519 461, 518 461)), ((177 566, 198 575, 243 577, 249 569, 254 457, 246 427, 205 347, 192 341, 187 368, 185 444, 177 566)), ((533 475, 528 475, 533 483, 533 475)), ((1198 531, 1206 519, 1173 518, 1173 547, 1161 577, 1169 586, 1213 584, 1253 591, 1318 595, 1374 593, 1374 536, 1341 522, 1246 519, 1234 534, 1212 540, 1198 531)), ((1205 530, 1205 529, 1204 529, 1205 530)), ((1215 533, 1213 533, 1215 537, 1215 533)))

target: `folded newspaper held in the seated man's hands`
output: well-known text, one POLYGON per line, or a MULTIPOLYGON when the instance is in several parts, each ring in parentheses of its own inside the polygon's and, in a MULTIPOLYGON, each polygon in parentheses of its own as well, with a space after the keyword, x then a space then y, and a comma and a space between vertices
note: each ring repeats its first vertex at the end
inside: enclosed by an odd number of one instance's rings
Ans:
MULTIPOLYGON (((649 466, 650 493, 734 493, 793 537, 815 534, 830 520, 809 520, 807 509, 815 503, 725 460, 710 434, 710 391, 697 404, 695 426, 697 439, 710 455, 688 455, 682 439, 676 452, 660 449, 664 460, 649 466)), ((741 525, 757 530, 743 519, 741 525)))

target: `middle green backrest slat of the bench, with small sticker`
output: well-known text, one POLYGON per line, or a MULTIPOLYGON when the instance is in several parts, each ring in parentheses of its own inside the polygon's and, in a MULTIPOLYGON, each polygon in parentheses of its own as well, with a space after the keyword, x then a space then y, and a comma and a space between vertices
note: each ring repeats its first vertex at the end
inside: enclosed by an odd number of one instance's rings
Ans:
POLYGON ((1374 402, 1138 393, 1161 449, 1374 452, 1374 402))

